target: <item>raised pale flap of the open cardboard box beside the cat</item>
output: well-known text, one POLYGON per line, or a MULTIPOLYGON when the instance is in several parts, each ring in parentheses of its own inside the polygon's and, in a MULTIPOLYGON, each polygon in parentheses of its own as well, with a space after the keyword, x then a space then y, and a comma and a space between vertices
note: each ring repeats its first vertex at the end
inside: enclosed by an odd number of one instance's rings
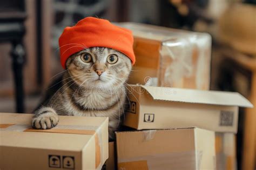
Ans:
POLYGON ((253 107, 237 92, 204 91, 139 85, 151 94, 154 100, 179 101, 210 105, 253 107))

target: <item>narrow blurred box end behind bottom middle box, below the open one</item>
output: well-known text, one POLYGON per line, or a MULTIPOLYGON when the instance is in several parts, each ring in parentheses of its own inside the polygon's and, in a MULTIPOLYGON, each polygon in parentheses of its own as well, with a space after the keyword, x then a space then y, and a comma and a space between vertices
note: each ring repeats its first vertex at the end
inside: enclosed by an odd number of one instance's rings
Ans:
POLYGON ((233 133, 215 133, 216 169, 237 169, 236 142, 233 133))

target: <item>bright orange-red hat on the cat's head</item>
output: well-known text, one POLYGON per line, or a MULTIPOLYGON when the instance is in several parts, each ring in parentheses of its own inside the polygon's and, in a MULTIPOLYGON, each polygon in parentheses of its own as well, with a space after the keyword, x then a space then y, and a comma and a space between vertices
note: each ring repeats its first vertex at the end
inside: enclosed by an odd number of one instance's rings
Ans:
POLYGON ((75 26, 68 26, 59 37, 60 62, 65 69, 66 60, 76 52, 90 47, 108 47, 124 53, 135 63, 133 36, 128 29, 111 24, 106 19, 87 17, 75 26))

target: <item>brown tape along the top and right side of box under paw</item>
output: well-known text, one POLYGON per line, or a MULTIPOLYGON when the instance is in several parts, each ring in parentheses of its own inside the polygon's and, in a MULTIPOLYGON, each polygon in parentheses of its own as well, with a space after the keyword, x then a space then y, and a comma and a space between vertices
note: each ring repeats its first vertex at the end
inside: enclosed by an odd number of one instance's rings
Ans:
POLYGON ((0 124, 0 131, 16 132, 48 132, 48 133, 66 133, 66 134, 85 134, 95 136, 95 167, 101 169, 103 165, 103 142, 99 126, 78 126, 78 125, 58 125, 48 130, 36 130, 30 125, 23 124, 0 124))

